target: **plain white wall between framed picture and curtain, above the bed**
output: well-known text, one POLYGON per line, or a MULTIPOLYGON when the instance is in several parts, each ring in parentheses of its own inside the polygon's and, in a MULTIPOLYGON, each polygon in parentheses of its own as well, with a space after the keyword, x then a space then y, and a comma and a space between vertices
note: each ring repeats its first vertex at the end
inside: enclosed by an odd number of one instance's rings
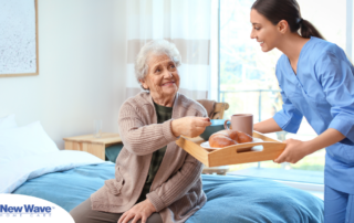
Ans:
POLYGON ((39 0, 40 75, 0 78, 0 117, 40 120, 63 137, 92 134, 93 119, 117 132, 125 93, 124 0, 39 0))

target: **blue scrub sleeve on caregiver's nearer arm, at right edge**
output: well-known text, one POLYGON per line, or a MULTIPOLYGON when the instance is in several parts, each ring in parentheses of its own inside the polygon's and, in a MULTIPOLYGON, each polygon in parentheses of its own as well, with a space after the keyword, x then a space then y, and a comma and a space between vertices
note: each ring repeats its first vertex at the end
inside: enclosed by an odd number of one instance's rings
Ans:
MULTIPOLYGON (((344 53, 343 53, 344 54, 344 53)), ((344 55, 326 53, 316 62, 316 73, 333 117, 329 128, 354 142, 354 67, 344 55)))

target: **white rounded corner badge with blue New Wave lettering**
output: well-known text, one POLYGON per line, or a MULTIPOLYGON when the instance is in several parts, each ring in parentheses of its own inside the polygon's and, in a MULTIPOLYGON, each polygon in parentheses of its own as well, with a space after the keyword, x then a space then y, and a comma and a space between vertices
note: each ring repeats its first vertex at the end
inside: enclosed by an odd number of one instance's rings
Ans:
POLYGON ((0 222, 74 223, 71 215, 61 206, 43 199, 0 194, 0 222))

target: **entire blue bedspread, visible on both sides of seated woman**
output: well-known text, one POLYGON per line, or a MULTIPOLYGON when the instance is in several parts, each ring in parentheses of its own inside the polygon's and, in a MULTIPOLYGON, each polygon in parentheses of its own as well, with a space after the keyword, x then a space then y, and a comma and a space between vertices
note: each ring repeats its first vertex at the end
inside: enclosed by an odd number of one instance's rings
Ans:
MULTIPOLYGON (((83 166, 27 181, 13 193, 51 201, 71 211, 114 178, 114 164, 83 166)), ((323 201, 271 180, 202 176, 208 202, 187 223, 317 223, 323 201)))

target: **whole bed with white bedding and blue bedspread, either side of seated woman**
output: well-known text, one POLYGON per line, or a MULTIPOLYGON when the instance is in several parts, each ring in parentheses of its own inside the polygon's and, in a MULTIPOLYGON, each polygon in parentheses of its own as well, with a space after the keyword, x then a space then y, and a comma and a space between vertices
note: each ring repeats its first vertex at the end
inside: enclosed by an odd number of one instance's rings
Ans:
MULTIPOLYGON (((83 151, 59 150, 56 146, 48 149, 55 144, 51 144, 48 136, 35 138, 38 128, 39 125, 32 126, 31 132, 0 129, 3 155, 0 157, 0 193, 41 198, 70 212, 105 180, 114 178, 113 162, 83 151), (6 142, 9 139, 11 144, 6 142), (31 148, 35 149, 31 151, 31 148)), ((323 222, 323 201, 308 192, 256 178, 206 174, 201 178, 208 201, 187 223, 323 222)))

